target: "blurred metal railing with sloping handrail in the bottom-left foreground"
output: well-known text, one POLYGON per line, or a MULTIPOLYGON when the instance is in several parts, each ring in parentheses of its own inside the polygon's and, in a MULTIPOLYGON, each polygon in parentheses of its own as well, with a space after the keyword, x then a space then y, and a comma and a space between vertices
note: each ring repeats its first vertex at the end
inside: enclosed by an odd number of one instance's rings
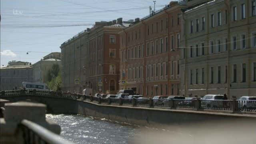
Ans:
POLYGON ((29 120, 22 120, 19 126, 24 144, 72 144, 62 139, 59 135, 29 120))

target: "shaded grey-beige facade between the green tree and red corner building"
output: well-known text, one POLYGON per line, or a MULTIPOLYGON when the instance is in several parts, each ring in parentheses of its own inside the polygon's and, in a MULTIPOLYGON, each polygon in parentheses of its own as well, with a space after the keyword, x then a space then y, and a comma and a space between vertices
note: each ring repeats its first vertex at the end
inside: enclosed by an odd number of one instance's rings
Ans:
POLYGON ((82 93, 86 88, 88 31, 84 30, 61 46, 62 91, 82 93))

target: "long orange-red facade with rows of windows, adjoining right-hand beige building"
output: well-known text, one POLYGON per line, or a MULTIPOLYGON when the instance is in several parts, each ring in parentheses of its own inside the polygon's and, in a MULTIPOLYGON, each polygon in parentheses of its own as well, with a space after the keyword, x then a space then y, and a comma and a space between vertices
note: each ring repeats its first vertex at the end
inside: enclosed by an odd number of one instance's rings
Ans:
POLYGON ((120 89, 147 97, 179 94, 181 8, 170 2, 119 33, 120 89))

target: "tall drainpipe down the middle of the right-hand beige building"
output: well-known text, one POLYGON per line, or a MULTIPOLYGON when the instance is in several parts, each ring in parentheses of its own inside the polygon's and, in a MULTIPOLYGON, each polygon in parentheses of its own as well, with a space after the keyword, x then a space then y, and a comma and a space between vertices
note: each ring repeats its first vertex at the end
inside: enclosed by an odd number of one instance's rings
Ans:
POLYGON ((227 34, 228 34, 228 50, 227 50, 227 96, 228 99, 230 99, 230 62, 229 62, 229 55, 230 55, 230 0, 226 0, 225 2, 226 8, 227 8, 227 22, 228 22, 228 29, 227 29, 227 34))

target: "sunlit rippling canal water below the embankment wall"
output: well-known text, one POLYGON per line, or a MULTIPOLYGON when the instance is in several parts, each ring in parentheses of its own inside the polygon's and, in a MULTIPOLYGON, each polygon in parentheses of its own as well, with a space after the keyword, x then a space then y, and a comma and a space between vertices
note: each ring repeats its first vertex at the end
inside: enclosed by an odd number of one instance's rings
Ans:
POLYGON ((127 144, 138 132, 134 126, 82 115, 47 114, 61 126, 61 136, 76 144, 127 144))

